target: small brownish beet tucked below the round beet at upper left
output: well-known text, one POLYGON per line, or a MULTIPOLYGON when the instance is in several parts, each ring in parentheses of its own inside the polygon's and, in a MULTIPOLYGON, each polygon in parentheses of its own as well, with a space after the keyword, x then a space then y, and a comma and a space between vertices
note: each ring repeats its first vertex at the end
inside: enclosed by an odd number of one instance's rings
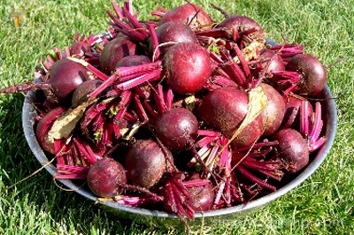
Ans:
POLYGON ((88 95, 102 84, 102 80, 86 80, 73 91, 72 104, 79 105, 88 100, 88 95))

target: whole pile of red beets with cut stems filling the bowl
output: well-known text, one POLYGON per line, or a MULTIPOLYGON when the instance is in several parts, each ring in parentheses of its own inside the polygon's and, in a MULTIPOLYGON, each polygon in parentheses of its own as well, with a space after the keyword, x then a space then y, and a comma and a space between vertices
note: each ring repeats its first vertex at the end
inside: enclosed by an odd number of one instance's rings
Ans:
POLYGON ((193 220, 304 169, 326 141, 326 67, 302 45, 270 44, 254 19, 213 7, 223 21, 190 3, 158 6, 148 20, 131 1, 112 3, 107 33, 76 34, 41 61, 35 81, 1 90, 33 92, 55 178, 193 220))

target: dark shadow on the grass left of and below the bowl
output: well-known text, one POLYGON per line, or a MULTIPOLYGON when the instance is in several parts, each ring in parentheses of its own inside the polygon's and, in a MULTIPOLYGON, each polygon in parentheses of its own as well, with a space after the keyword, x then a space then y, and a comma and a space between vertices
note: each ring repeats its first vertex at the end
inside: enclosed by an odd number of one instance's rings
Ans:
MULTIPOLYGON (((19 180, 37 171, 41 165, 30 151, 21 125, 23 95, 15 94, 1 97, 0 112, 0 176, 5 187, 12 186, 19 180)), ((60 184, 60 183, 59 183, 60 184)), ((56 186, 51 175, 43 170, 16 187, 0 194, 5 199, 24 201, 28 198, 36 210, 43 211, 54 233, 59 228, 73 227, 77 233, 93 234, 141 234, 146 231, 165 234, 171 232, 163 226, 151 226, 134 216, 116 215, 112 211, 100 208, 75 192, 68 192, 56 186)), ((6 209, 6 208, 5 208, 6 209)), ((24 211, 24 215, 33 213, 24 211)), ((19 213, 21 214, 21 213, 19 213)), ((177 229, 176 233, 183 230, 177 229)), ((69 234, 69 231, 67 232, 69 234)))

